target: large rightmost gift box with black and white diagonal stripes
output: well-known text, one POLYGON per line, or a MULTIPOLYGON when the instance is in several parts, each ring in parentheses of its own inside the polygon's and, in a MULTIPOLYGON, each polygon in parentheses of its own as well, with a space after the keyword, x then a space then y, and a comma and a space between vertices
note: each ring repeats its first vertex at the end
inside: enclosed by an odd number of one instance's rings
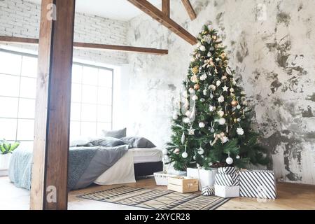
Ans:
POLYGON ((276 198, 274 172, 269 170, 242 170, 239 186, 241 197, 276 198))

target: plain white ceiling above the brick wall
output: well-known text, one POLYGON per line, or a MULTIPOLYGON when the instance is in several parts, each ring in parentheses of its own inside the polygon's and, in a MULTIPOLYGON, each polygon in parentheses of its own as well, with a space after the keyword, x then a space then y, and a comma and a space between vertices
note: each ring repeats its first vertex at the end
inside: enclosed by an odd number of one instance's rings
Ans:
MULTIPOLYGON (((27 0, 41 3, 41 0, 27 0)), ((159 6, 161 0, 149 0, 153 5, 159 6)), ((99 15, 113 20, 128 21, 142 12, 127 0, 76 0, 76 11, 99 15)))

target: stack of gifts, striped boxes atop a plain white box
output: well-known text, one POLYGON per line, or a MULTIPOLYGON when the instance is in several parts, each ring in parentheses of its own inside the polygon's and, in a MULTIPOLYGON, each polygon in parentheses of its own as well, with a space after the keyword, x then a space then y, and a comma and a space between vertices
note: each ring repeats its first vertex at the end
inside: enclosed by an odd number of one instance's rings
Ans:
POLYGON ((235 167, 218 168, 214 189, 219 197, 239 197, 239 174, 235 167))

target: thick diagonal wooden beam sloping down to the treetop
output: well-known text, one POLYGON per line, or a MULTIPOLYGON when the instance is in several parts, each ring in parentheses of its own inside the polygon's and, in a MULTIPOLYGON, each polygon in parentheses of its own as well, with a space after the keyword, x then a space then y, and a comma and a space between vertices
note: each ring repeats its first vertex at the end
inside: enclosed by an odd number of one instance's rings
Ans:
POLYGON ((190 34, 186 29, 178 25, 174 20, 171 20, 165 13, 153 6, 150 2, 146 0, 127 0, 134 6, 144 11, 144 13, 150 15, 153 19, 160 22, 162 25, 172 30, 175 34, 181 36, 188 43, 195 45, 197 43, 197 38, 190 34))

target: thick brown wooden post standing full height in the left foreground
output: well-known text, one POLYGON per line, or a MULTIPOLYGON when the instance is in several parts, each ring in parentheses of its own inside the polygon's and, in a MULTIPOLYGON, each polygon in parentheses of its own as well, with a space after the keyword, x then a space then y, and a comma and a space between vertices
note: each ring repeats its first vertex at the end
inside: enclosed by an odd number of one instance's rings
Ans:
POLYGON ((75 0, 42 0, 30 209, 67 209, 75 0))

